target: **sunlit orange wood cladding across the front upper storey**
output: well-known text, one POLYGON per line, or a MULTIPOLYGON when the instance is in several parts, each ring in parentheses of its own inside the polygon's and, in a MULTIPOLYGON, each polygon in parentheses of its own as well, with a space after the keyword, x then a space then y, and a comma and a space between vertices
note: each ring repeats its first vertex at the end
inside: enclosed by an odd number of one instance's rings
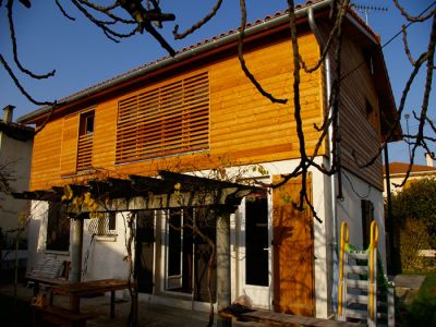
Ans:
MULTIPOLYGON (((315 37, 301 35, 299 41, 306 64, 316 63, 315 37)), ((92 168, 119 177, 154 174, 157 169, 209 169, 223 161, 250 165, 299 158, 291 53, 289 39, 274 39, 245 53, 257 81, 274 96, 287 98, 286 105, 271 104, 256 90, 235 53, 203 60, 183 73, 95 102, 92 168)), ((301 81, 303 130, 311 154, 319 136, 314 124, 324 116, 322 72, 302 71, 301 81)), ((38 165, 33 167, 33 190, 83 177, 77 171, 77 146, 80 116, 86 108, 50 121, 35 138, 38 165), (51 160, 41 161, 45 153, 51 160)), ((323 146, 319 155, 324 152, 323 146)))

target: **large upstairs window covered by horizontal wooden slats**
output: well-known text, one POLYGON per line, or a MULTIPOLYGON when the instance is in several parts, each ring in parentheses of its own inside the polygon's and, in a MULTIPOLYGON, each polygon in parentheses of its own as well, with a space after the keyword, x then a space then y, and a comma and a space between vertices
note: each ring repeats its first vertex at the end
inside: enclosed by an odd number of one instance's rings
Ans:
POLYGON ((202 150, 208 146, 207 72, 118 104, 117 164, 202 150))

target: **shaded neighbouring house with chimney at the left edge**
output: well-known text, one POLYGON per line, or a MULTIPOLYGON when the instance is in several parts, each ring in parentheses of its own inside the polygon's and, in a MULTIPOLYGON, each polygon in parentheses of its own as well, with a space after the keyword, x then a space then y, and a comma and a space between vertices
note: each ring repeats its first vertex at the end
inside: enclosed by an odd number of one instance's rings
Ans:
MULTIPOLYGON (((3 251, 0 255, 5 255, 4 251, 12 245, 15 249, 13 241, 19 228, 19 216, 29 214, 26 201, 15 199, 8 194, 28 189, 35 134, 33 128, 13 122, 13 106, 7 106, 3 109, 3 120, 0 119, 0 169, 10 189, 0 191, 0 235, 2 238, 0 250, 3 251)), ((21 234, 22 240, 26 237, 25 233, 21 234)), ((13 259, 14 255, 8 257, 13 259)))

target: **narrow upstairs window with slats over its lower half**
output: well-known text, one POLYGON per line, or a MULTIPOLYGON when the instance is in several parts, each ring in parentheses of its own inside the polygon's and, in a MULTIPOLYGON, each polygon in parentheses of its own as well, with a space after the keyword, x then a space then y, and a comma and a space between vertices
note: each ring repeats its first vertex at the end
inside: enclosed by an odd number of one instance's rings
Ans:
POLYGON ((94 110, 81 114, 77 143, 77 171, 87 170, 93 164, 94 110))

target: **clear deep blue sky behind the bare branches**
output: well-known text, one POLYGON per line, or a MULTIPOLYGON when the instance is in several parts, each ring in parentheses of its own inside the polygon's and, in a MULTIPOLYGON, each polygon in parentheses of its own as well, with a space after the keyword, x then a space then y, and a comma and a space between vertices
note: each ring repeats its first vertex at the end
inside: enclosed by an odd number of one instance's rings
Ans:
MULTIPOLYGON (((3 7, 0 8, 0 53, 11 60, 11 43, 9 27, 3 7)), ((36 73, 46 73, 56 70, 56 75, 49 80, 35 81, 23 74, 17 74, 26 90, 37 100, 56 100, 117 76, 129 70, 155 61, 168 53, 147 34, 137 34, 132 38, 116 44, 109 40, 100 29, 85 19, 70 1, 60 0, 74 22, 65 19, 57 8, 55 0, 32 1, 31 9, 25 9, 19 1, 14 5, 15 33, 17 38, 19 58, 22 63, 36 73)), ((112 1, 98 1, 110 3, 112 1)), ((180 29, 191 26, 199 17, 209 12, 216 0, 161 0, 164 12, 175 14, 180 29)), ((305 1, 295 1, 303 3, 305 1)), ((355 0, 355 4, 378 7, 385 10, 370 10, 362 17, 380 35, 382 45, 385 45, 396 35, 401 24, 405 24, 391 0, 355 0)), ((433 0, 400 0, 411 14, 420 14, 433 0)), ((287 7, 286 0, 246 0, 247 21, 254 22, 268 14, 282 11, 287 7)), ((225 0, 217 16, 194 35, 183 40, 173 40, 171 32, 175 24, 169 22, 161 31, 174 49, 196 44, 229 29, 238 28, 240 24, 239 1, 225 0)), ((417 58, 428 44, 431 32, 429 22, 416 23, 408 28, 412 56, 417 58)), ((388 69, 393 96, 399 105, 405 81, 412 68, 404 55, 401 36, 395 38, 383 48, 388 69)), ((16 70, 15 70, 16 71, 16 70)), ((404 113, 421 108, 423 96, 424 75, 420 74, 415 81, 404 113)), ((428 116, 436 120, 435 89, 431 95, 428 116)), ((7 72, 0 68, 0 107, 7 105, 16 107, 14 118, 23 116, 38 107, 31 104, 14 86, 7 72)), ((408 122, 410 133, 413 133, 417 123, 413 119, 408 122)), ((407 131, 405 120, 402 120, 403 131, 407 131)), ((432 145, 436 152, 435 144, 432 145)), ((390 161, 408 161, 409 150, 403 142, 389 146, 390 161)), ((415 164, 425 165, 424 154, 419 152, 415 164)))

